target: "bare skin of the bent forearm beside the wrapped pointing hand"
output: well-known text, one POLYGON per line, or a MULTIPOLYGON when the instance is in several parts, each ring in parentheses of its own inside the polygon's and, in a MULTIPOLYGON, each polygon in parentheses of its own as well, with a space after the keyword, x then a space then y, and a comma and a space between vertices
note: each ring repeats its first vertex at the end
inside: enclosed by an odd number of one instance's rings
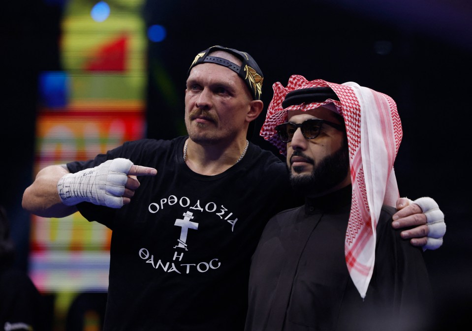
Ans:
POLYGON ((25 210, 42 217, 64 217, 77 211, 75 206, 65 206, 58 194, 58 181, 69 171, 65 166, 53 165, 38 172, 34 182, 23 194, 25 210))

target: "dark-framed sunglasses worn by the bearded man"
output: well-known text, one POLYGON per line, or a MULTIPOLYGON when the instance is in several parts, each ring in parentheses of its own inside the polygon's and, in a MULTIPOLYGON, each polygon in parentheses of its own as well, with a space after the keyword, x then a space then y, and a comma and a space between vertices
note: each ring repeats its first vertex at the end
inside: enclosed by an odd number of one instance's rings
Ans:
POLYGON ((303 122, 299 124, 286 122, 286 123, 277 125, 275 129, 277 130, 277 133, 279 134, 280 139, 284 143, 288 143, 289 141, 292 140, 293 135, 295 134, 295 131, 298 128, 301 128, 302 135, 305 138, 307 139, 316 138, 320 134, 321 127, 323 126, 323 124, 328 124, 339 131, 344 130, 344 125, 336 124, 336 123, 330 122, 329 120, 320 120, 320 119, 304 120, 303 122))

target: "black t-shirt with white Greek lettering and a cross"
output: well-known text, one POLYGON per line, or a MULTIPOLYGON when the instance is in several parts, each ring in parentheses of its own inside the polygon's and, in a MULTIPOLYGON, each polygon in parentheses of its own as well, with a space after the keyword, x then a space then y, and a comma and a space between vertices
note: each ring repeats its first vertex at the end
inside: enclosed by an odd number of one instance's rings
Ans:
POLYGON ((301 205, 286 166, 250 144, 216 176, 183 161, 187 137, 144 139, 68 163, 70 172, 124 157, 157 169, 121 209, 78 205, 113 230, 105 330, 242 330, 252 253, 267 220, 301 205), (298 200, 299 202, 299 200, 298 200))

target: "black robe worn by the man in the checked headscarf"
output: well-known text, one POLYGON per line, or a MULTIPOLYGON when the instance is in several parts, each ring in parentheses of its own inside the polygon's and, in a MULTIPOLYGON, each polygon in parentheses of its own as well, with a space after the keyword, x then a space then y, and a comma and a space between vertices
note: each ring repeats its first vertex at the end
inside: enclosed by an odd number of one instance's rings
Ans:
POLYGON ((427 330, 431 300, 422 249, 402 240, 384 206, 363 300, 347 271, 351 186, 307 199, 267 224, 252 257, 246 331, 427 330))

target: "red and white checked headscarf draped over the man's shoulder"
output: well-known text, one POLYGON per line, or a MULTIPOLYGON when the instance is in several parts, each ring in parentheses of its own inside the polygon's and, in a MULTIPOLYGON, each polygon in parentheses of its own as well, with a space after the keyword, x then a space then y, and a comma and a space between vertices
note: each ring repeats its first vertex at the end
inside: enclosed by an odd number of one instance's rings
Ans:
POLYGON ((395 101, 388 95, 353 82, 335 84, 320 79, 307 81, 292 75, 287 87, 273 85, 274 97, 260 131, 286 155, 275 127, 287 121, 289 110, 303 111, 334 104, 346 123, 352 182, 352 204, 346 230, 345 254, 349 274, 362 298, 372 277, 375 262, 376 227, 382 205, 395 206, 399 198, 393 163, 402 141, 402 125, 395 101), (282 101, 292 90, 330 87, 340 101, 292 105, 282 101))

